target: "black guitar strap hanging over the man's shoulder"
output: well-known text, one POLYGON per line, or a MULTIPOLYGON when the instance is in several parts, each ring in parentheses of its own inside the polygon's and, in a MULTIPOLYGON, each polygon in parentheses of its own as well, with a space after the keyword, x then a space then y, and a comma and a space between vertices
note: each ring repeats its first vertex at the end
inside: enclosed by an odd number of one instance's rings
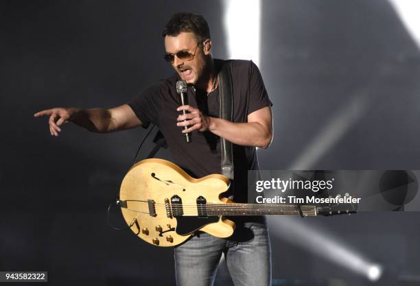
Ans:
MULTIPOLYGON (((218 75, 220 93, 220 118, 233 122, 233 86, 229 64, 223 64, 218 75)), ((233 146, 230 141, 220 137, 222 152, 222 175, 233 180, 233 146)))

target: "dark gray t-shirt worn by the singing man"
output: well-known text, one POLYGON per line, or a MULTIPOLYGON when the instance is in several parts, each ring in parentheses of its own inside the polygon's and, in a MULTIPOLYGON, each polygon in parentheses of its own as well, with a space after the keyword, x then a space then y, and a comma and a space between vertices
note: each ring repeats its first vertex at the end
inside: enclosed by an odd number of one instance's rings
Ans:
MULTIPOLYGON (((247 116, 266 106, 272 105, 258 67, 249 60, 215 60, 216 69, 222 64, 229 64, 233 86, 233 122, 246 122, 247 116)), ((191 143, 186 143, 181 131, 176 126, 176 117, 180 114, 176 108, 180 106, 176 81, 177 73, 170 78, 146 88, 128 102, 143 127, 154 123, 159 127, 174 156, 175 164, 185 169, 196 178, 209 174, 220 174, 220 137, 211 132, 195 130, 191 134, 191 143)), ((188 103, 199 108, 211 117, 220 117, 219 88, 205 93, 189 86, 188 103)), ((235 166, 235 201, 246 202, 246 183, 248 169, 258 169, 255 147, 233 145, 233 162, 235 166)))

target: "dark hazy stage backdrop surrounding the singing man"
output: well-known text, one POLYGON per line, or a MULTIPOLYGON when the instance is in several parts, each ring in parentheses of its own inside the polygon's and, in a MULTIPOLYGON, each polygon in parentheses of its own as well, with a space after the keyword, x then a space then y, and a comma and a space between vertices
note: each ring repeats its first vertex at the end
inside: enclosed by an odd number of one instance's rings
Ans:
MULTIPOLYGON (((161 30, 175 11, 202 13, 213 56, 226 58, 222 2, 0 5, 0 271, 48 271, 50 285, 174 285, 171 249, 106 222, 145 130, 105 135, 68 124, 56 138, 33 114, 118 106, 170 75, 161 30)), ((263 1, 261 33, 259 67, 275 121, 271 147, 259 150, 262 169, 420 169, 420 52, 388 1, 263 1), (312 147, 318 156, 304 156, 312 147)), ((275 217, 273 285, 419 285, 419 219, 275 217), (281 237, 295 223, 379 263, 382 280, 281 237)), ((217 282, 224 279, 222 269, 217 282)))

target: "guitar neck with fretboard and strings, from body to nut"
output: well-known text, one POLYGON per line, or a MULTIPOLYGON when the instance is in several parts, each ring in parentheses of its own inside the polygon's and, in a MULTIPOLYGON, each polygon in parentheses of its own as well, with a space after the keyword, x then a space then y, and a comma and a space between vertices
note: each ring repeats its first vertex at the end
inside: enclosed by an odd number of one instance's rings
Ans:
POLYGON ((317 215, 316 206, 294 204, 205 204, 199 213, 207 215, 317 215))

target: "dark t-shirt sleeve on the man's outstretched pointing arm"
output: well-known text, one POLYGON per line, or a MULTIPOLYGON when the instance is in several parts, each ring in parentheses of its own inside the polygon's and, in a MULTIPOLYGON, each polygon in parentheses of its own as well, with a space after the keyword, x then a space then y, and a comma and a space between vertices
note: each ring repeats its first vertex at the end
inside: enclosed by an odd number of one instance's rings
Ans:
POLYGON ((127 103, 139 117, 143 128, 148 128, 150 123, 159 126, 159 97, 161 97, 161 88, 159 84, 155 84, 141 91, 127 103))

